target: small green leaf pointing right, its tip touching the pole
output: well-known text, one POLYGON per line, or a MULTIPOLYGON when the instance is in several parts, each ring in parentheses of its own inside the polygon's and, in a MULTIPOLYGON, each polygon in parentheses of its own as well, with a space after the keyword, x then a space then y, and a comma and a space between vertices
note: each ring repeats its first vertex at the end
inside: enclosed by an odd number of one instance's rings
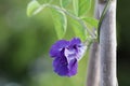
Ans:
POLYGON ((83 17, 82 18, 87 24, 91 25, 94 28, 98 28, 99 20, 93 17, 83 17))

